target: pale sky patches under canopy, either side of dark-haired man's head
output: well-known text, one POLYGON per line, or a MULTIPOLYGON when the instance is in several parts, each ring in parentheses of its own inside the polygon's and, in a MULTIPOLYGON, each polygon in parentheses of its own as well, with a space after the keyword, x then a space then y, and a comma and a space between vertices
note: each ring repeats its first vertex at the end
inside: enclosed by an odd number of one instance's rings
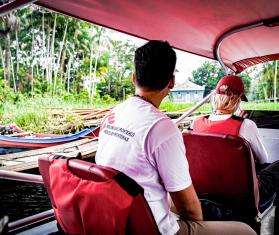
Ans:
MULTIPOLYGON (((113 31, 112 37, 120 40, 129 40, 137 47, 143 45, 146 41, 139 39, 124 33, 113 31)), ((176 82, 182 83, 187 78, 192 76, 192 71, 198 68, 204 61, 209 59, 203 58, 201 56, 193 55, 187 52, 175 50, 177 55, 176 68, 178 72, 176 73, 176 82)))

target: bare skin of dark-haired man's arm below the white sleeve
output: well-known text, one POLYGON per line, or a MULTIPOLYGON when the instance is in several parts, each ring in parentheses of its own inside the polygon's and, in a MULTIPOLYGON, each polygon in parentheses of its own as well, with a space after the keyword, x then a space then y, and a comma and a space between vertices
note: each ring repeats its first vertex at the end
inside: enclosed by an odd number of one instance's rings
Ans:
POLYGON ((191 184, 188 188, 170 193, 174 206, 183 220, 203 220, 200 201, 191 184))

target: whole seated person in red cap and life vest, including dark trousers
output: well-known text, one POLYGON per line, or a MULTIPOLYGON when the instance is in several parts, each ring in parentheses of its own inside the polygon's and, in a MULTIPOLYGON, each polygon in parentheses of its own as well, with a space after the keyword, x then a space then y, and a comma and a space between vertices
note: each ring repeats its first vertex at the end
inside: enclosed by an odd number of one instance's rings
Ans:
POLYGON ((242 79, 234 75, 224 76, 218 82, 211 99, 213 113, 195 120, 193 131, 237 135, 246 139, 255 155, 256 166, 264 168, 257 173, 260 198, 261 201, 266 201, 275 192, 279 195, 279 161, 267 163, 268 155, 256 124, 252 120, 234 115, 241 100, 247 101, 242 79))

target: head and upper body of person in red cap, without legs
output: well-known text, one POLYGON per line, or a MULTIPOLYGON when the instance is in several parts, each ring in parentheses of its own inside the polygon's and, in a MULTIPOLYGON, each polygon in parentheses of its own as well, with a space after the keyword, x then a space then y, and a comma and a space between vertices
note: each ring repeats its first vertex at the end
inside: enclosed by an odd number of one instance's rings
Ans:
POLYGON ((221 78, 211 99, 213 113, 197 119, 193 124, 193 130, 239 135, 250 143, 256 156, 255 160, 264 164, 268 161, 268 156, 256 124, 252 120, 234 115, 241 101, 247 101, 242 79, 233 75, 221 78))

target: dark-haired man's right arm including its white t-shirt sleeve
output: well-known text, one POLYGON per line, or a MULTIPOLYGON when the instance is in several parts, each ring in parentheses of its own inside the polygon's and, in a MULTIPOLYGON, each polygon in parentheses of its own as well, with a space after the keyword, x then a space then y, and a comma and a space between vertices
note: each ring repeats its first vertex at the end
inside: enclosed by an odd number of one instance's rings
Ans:
POLYGON ((202 220, 201 206, 192 185, 181 132, 173 122, 162 120, 149 134, 146 146, 150 150, 148 159, 158 169, 163 186, 170 193, 178 214, 182 219, 202 220))

